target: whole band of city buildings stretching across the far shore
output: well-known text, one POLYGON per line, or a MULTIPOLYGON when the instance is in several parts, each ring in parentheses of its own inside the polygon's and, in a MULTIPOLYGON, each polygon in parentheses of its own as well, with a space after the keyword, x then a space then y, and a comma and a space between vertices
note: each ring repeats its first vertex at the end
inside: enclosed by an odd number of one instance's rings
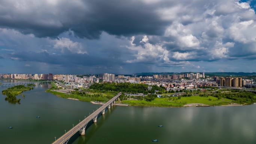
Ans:
POLYGON ((193 90, 204 86, 246 87, 255 88, 252 79, 241 77, 205 77, 204 73, 156 74, 149 76, 136 75, 71 75, 71 74, 0 74, 0 79, 34 79, 58 80, 70 88, 89 88, 93 83, 143 83, 163 86, 167 91, 187 89, 193 90), (203 78, 203 79, 201 79, 203 78))

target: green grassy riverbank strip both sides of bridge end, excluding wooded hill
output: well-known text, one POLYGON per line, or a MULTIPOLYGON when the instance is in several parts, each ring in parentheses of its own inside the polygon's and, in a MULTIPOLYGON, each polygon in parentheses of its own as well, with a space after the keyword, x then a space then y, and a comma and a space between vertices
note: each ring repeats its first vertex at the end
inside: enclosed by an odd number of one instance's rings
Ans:
MULTIPOLYGON (((83 89, 76 91, 68 91, 67 89, 60 89, 52 82, 52 88, 47 90, 54 95, 62 98, 73 98, 79 99, 79 101, 99 101, 104 103, 115 96, 118 92, 115 91, 99 91, 92 89, 83 89)), ((252 99, 247 98, 248 92, 237 92, 232 91, 225 94, 210 93, 210 92, 188 92, 182 96, 170 96, 162 94, 161 98, 157 95, 146 95, 146 96, 125 96, 120 97, 120 101, 117 102, 122 105, 131 106, 149 106, 149 107, 208 107, 208 106, 221 106, 221 105, 243 105, 251 104, 255 94, 252 95, 252 99), (191 94, 190 94, 191 93, 191 94), (192 95, 192 96, 191 96, 192 95), (200 95, 200 96, 199 96, 200 95), (211 96, 214 95, 214 96, 211 96), (245 96, 245 97, 243 97, 245 96), (231 98, 231 99, 229 99, 231 98), (234 100, 234 98, 236 100, 234 100), (248 102, 248 103, 247 103, 248 102), (196 104, 196 105, 195 105, 196 104)), ((98 104, 98 103, 94 103, 98 104)))

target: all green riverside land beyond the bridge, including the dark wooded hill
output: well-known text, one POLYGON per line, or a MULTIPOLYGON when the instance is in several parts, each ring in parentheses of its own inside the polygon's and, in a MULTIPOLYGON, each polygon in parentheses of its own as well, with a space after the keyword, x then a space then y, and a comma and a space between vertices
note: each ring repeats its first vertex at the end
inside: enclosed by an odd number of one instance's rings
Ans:
POLYGON ((79 99, 80 101, 106 102, 121 91, 122 95, 117 101, 119 104, 154 107, 246 105, 256 102, 256 94, 254 92, 217 88, 205 91, 198 89, 197 91, 167 92, 158 86, 153 86, 149 90, 148 85, 145 84, 95 83, 89 89, 75 89, 69 92, 61 89, 63 88, 52 83, 52 88, 48 89, 47 92, 63 98, 79 99), (137 94, 138 92, 144 95, 129 95, 129 93, 137 94))

